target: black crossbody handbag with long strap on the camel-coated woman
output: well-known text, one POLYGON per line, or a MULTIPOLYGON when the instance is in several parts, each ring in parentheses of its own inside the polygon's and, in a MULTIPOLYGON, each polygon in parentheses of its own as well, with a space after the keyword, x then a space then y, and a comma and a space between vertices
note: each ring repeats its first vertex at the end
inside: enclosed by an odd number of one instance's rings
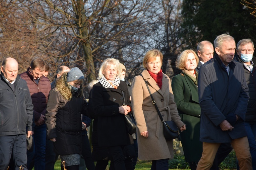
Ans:
POLYGON ((153 96, 152 96, 152 94, 149 90, 149 87, 147 85, 146 80, 144 79, 144 77, 142 75, 141 75, 141 77, 143 78, 143 80, 146 83, 147 90, 148 90, 148 92, 150 94, 150 97, 152 99, 152 103, 155 106, 155 109, 158 113, 158 116, 159 116, 160 120, 162 121, 162 123, 164 125, 164 137, 165 137, 165 139, 166 140, 173 140, 173 139, 179 138, 178 141, 180 141, 180 132, 179 132, 178 127, 176 126, 175 122, 174 121, 164 121, 163 120, 163 117, 162 117, 162 115, 161 115, 161 113, 160 113, 160 111, 159 111, 159 109, 158 109, 158 107, 155 103, 155 100, 154 100, 154 98, 153 98, 153 96))

